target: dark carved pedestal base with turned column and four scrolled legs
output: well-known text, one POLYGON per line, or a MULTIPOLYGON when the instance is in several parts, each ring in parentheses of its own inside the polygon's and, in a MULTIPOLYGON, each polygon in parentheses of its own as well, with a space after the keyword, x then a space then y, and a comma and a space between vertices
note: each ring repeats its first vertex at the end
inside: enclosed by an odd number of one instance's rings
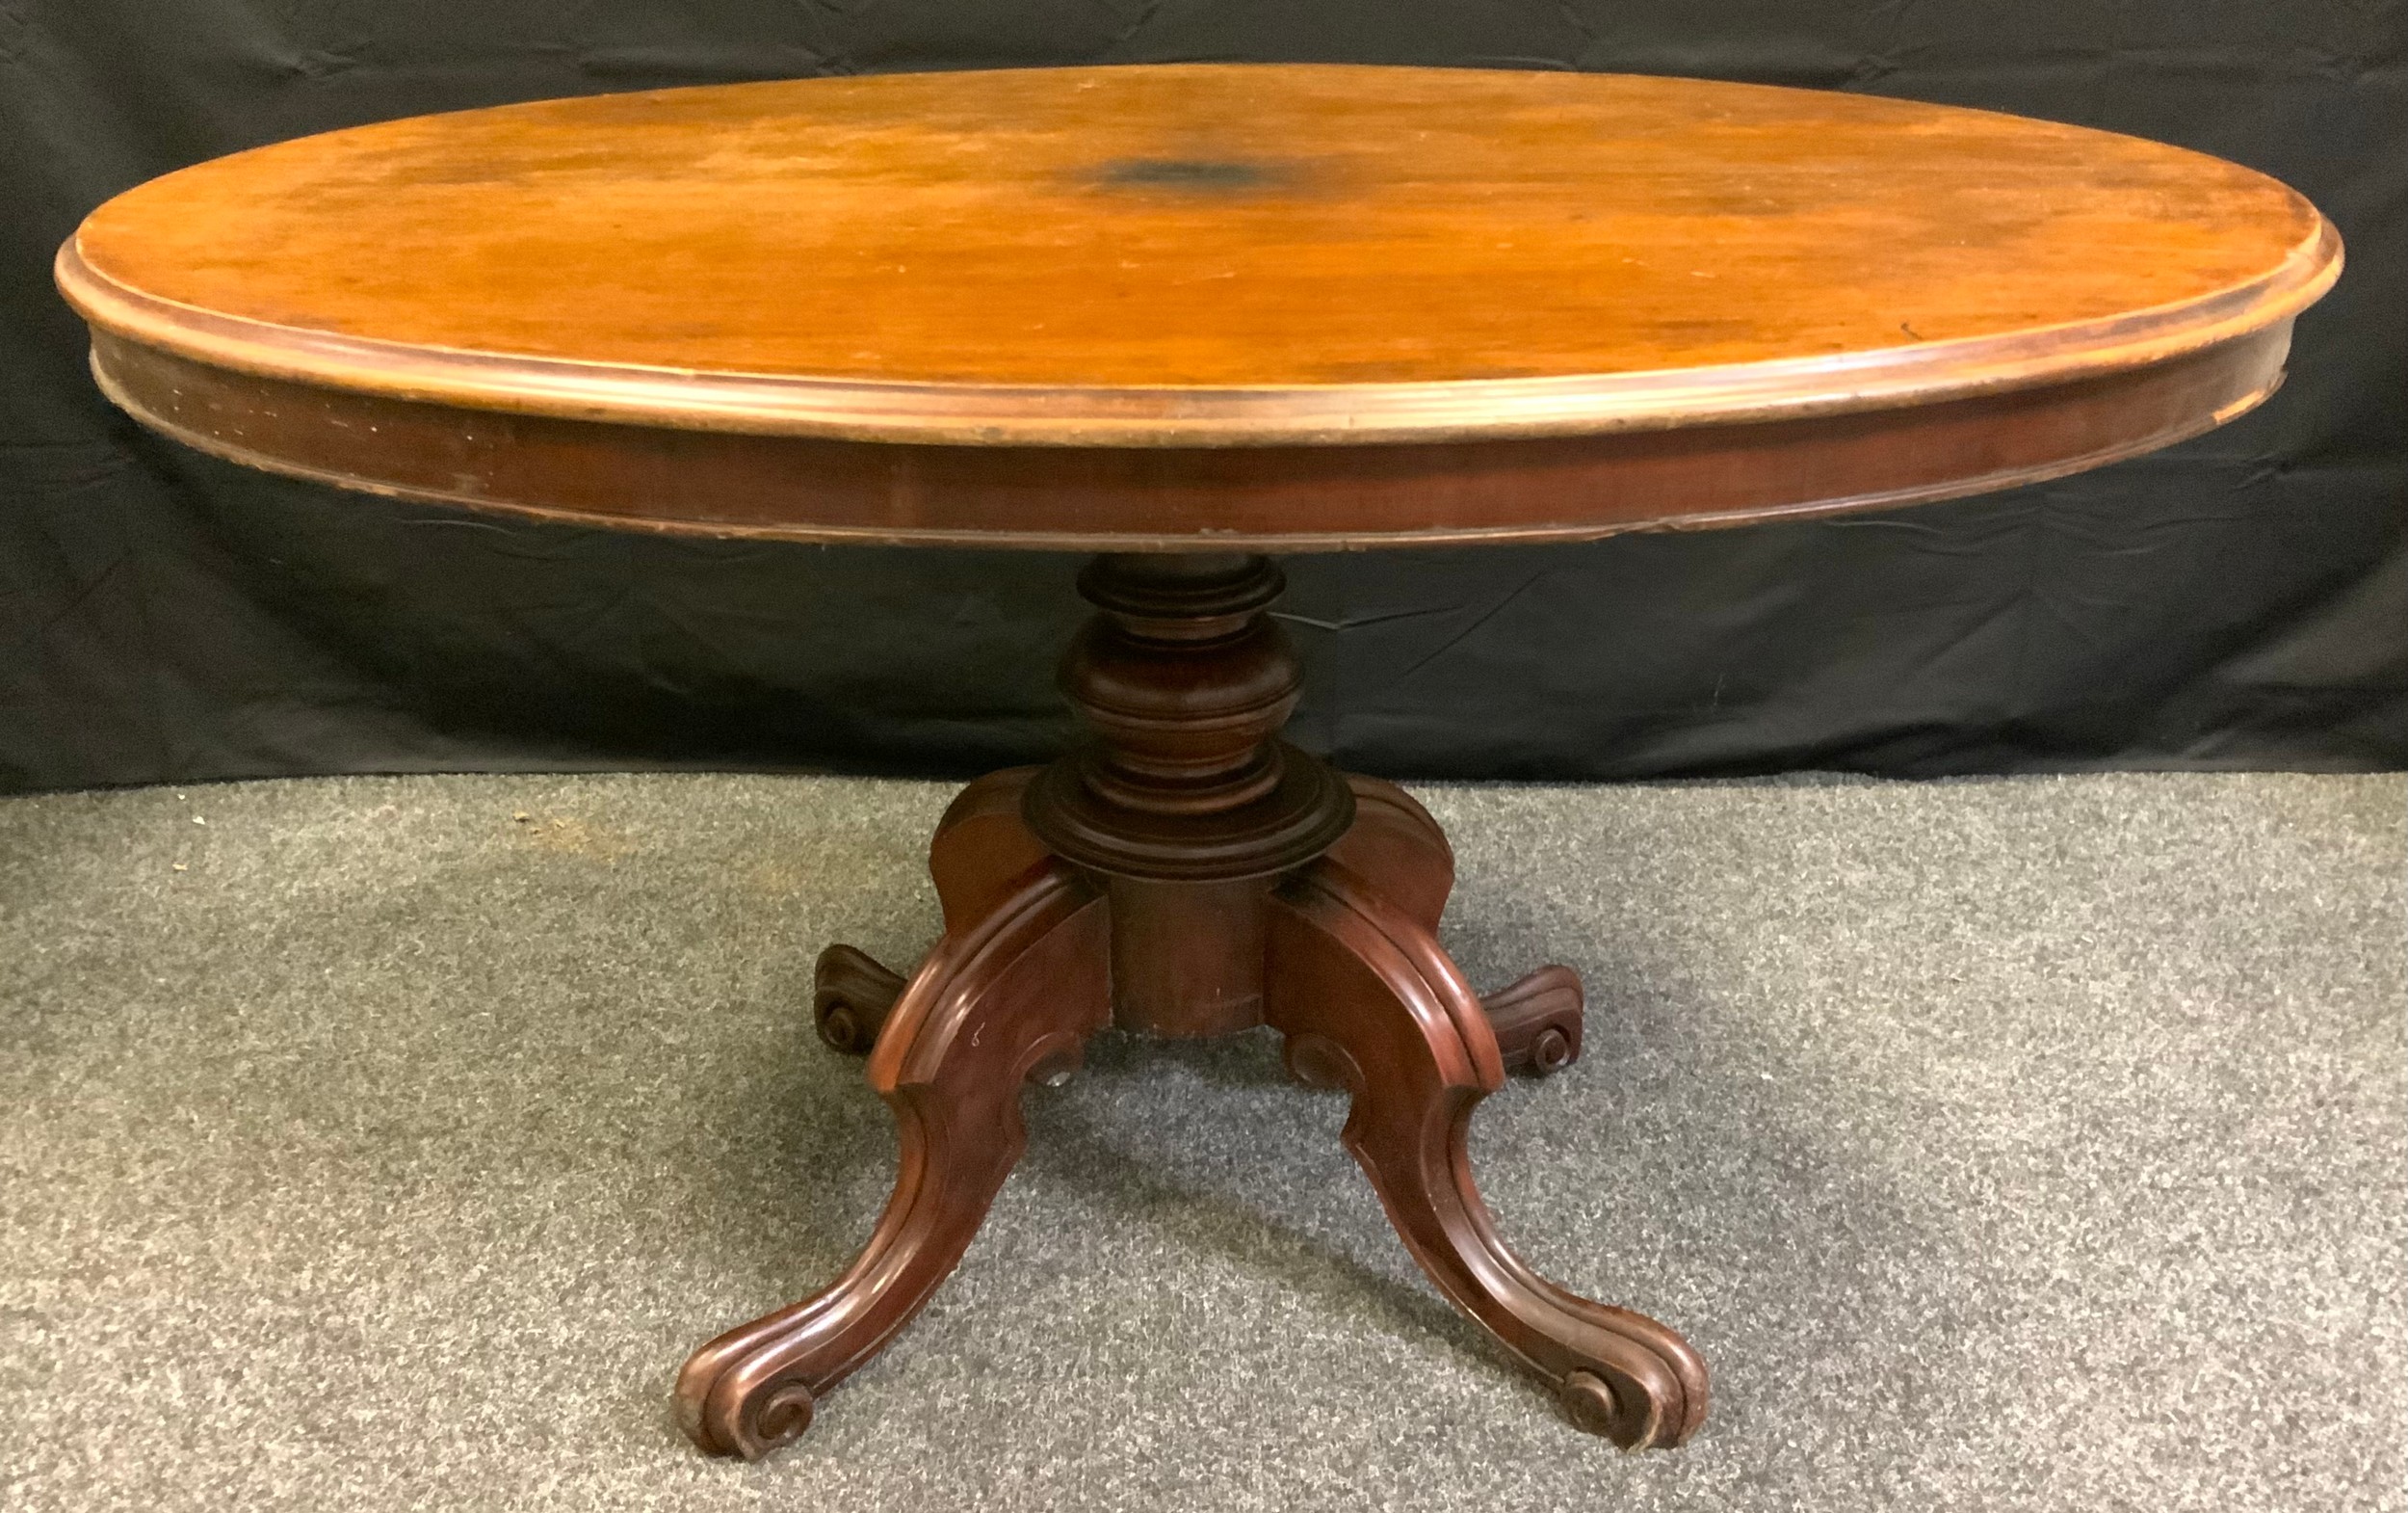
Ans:
POLYGON ((1096 740, 980 778, 929 846, 944 937, 905 981, 852 947, 819 959, 828 1046, 869 1055, 903 1159, 860 1260, 826 1291, 686 1361, 703 1450, 759 1458, 867 1361, 961 1260, 1026 1144, 1019 1091, 1079 1065, 1105 1024, 1286 1036, 1298 1082, 1353 1099, 1346 1147, 1413 1260, 1623 1448, 1705 1417, 1698 1354, 1664 1325, 1531 1272, 1498 1238, 1464 1135, 1505 1070, 1580 1055, 1580 978, 1544 966, 1481 1000, 1438 947, 1454 858, 1404 790, 1274 740, 1296 658, 1259 557, 1100 559, 1103 610, 1064 663, 1096 740))

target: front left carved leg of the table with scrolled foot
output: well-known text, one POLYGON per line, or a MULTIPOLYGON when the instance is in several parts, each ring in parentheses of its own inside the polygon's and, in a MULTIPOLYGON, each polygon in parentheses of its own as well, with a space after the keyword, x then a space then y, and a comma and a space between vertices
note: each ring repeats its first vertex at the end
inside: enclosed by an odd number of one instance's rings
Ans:
POLYGON ((795 1438, 814 1400, 920 1311, 1021 1156, 1021 1084, 1067 1075, 1112 1017, 1103 899, 1023 843, 1026 773, 997 778, 1007 807, 987 802, 997 797, 990 778, 939 834, 932 870, 946 935, 869 1055, 869 1087, 893 1108, 903 1147, 893 1197, 860 1260, 826 1291, 686 1361, 677 1417, 703 1450, 751 1460, 795 1438))

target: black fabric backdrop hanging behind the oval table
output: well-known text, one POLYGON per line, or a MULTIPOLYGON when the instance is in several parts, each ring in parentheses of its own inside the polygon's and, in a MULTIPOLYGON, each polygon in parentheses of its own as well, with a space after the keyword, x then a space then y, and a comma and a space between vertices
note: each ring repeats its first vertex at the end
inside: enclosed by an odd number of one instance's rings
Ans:
POLYGON ((2408 764, 2394 0, 0 0, 0 785, 1050 752, 1067 557, 641 540, 250 475, 101 402, 48 263, 142 178, 393 116, 1197 58, 1991 106, 2251 164, 2350 246, 2290 385, 2155 458, 1847 520, 1291 559, 1308 747, 1522 778, 2408 764))

